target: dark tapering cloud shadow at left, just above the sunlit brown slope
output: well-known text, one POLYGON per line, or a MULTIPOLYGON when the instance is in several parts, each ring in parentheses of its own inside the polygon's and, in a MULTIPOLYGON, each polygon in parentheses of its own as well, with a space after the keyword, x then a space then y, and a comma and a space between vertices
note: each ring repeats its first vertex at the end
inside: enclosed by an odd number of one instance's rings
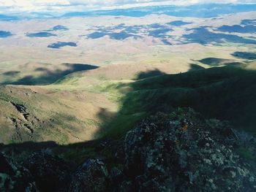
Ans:
MULTIPOLYGON (((89 65, 89 64, 69 64, 64 63, 61 66, 66 67, 67 69, 61 70, 56 69, 55 71, 51 71, 45 67, 39 67, 34 70, 34 72, 41 72, 42 74, 39 77, 34 77, 33 75, 28 75, 26 77, 21 78, 15 82, 3 82, 3 85, 12 84, 12 85, 48 85, 56 80, 61 79, 62 77, 66 76, 67 74, 72 74, 73 72, 80 72, 80 71, 87 71, 92 69, 97 69, 99 66, 89 65)), ((5 72, 3 75, 5 76, 13 76, 17 72, 5 72)))

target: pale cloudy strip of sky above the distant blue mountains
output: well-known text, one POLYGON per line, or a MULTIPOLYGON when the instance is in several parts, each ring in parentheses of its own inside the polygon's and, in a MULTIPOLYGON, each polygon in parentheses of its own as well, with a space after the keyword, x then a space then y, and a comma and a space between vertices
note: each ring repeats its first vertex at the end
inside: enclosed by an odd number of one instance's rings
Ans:
POLYGON ((198 3, 256 3, 256 0, 0 0, 0 13, 72 12, 89 9, 116 9, 150 5, 198 3))

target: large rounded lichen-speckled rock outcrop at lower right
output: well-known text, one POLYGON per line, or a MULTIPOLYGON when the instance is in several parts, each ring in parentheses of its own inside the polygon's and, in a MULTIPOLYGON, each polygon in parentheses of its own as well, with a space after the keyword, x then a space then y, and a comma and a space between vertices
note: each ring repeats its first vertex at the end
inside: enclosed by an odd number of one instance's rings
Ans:
POLYGON ((237 140, 226 123, 193 110, 159 113, 127 133, 124 171, 135 191, 255 191, 237 140))

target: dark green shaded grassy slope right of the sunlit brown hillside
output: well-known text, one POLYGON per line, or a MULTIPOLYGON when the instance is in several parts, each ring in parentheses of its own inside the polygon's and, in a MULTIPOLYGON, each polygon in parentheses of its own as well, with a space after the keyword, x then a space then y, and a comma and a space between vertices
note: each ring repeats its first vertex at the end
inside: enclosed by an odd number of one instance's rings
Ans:
POLYGON ((119 137, 144 116, 171 107, 193 107, 207 118, 230 120, 236 128, 256 134, 255 66, 200 69, 110 85, 108 90, 129 87, 132 91, 123 95, 118 115, 98 134, 119 137))

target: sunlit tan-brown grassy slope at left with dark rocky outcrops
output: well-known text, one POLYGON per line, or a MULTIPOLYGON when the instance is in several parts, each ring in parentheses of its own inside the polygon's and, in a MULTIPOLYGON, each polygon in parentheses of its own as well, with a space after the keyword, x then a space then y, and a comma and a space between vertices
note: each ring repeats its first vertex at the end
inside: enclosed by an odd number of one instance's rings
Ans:
POLYGON ((98 111, 112 107, 105 96, 97 93, 44 91, 0 86, 0 142, 89 140, 99 127, 98 111), (24 118, 11 102, 26 107, 29 118, 24 118), (18 122, 17 128, 12 119, 18 122), (32 134, 26 125, 33 128, 32 134))

